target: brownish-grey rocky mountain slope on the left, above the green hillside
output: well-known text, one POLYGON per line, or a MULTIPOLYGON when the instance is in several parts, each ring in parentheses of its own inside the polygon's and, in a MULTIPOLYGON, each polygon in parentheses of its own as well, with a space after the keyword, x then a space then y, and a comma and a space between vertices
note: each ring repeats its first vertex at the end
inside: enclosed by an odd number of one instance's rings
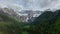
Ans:
POLYGON ((20 18, 19 15, 11 8, 0 8, 0 15, 2 14, 17 20, 20 18))

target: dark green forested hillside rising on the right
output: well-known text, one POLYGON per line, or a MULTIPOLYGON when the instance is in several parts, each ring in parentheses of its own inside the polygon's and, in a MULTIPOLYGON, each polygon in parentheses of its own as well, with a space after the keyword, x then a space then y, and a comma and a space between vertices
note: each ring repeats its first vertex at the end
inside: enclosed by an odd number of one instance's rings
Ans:
POLYGON ((60 34, 60 10, 45 11, 32 24, 38 34, 60 34))

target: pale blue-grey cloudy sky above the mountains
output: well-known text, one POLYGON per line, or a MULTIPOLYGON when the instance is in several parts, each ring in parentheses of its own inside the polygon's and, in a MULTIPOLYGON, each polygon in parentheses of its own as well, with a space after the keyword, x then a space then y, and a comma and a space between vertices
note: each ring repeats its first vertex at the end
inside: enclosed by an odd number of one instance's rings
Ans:
POLYGON ((60 9, 60 0, 0 0, 0 7, 10 7, 16 10, 60 9))

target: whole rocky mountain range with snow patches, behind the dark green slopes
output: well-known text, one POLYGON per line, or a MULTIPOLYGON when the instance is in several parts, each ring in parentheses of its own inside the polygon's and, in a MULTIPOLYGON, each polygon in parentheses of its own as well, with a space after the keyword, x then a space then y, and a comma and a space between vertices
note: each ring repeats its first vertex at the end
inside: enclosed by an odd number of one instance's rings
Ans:
POLYGON ((33 10, 21 10, 21 11, 15 11, 12 8, 0 8, 0 14, 7 15, 9 17, 15 18, 22 22, 28 22, 30 20, 34 20, 36 17, 38 17, 40 14, 42 14, 42 11, 33 11, 33 10))

